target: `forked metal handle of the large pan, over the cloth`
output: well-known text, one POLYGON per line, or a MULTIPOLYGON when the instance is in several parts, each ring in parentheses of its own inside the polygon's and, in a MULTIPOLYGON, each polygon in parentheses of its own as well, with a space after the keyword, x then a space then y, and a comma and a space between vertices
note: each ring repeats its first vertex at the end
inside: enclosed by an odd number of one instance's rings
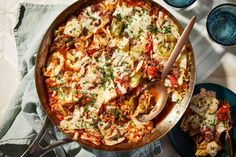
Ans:
POLYGON ((40 142, 43 140, 44 136, 47 133, 47 128, 49 125, 49 119, 46 118, 43 128, 40 130, 39 134, 34 139, 33 143, 29 146, 29 148, 21 155, 21 157, 40 157, 47 152, 51 151, 52 149, 56 148, 57 146, 72 142, 71 139, 62 139, 59 141, 55 141, 46 147, 42 147, 40 142))

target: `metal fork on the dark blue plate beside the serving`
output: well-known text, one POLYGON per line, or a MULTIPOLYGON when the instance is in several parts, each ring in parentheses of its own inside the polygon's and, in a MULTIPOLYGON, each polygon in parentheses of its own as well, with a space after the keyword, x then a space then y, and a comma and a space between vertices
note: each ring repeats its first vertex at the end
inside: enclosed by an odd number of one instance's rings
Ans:
MULTIPOLYGON (((229 102, 227 100, 222 100, 221 104, 225 105, 225 104, 229 104, 229 102)), ((228 117, 229 117, 229 122, 228 122, 229 125, 227 125, 227 129, 225 131, 225 141, 227 145, 228 155, 229 157, 233 157, 232 142, 231 142, 231 137, 229 135, 230 129, 232 128, 232 119, 231 119, 230 112, 228 112, 228 117)))

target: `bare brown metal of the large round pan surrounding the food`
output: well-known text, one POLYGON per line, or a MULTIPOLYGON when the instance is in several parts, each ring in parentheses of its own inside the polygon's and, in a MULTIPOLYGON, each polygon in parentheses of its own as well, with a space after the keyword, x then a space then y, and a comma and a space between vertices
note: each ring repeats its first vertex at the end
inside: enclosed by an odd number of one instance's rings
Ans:
MULTIPOLYGON (((152 0, 146 0, 147 2, 151 2, 154 6, 159 7, 164 13, 168 14, 169 17, 175 21, 177 26, 179 27, 180 32, 182 33, 183 28, 178 22, 178 20, 164 7, 159 5, 158 3, 152 1, 152 0)), ((47 95, 47 89, 44 82, 44 76, 43 76, 43 68, 45 67, 47 57, 49 56, 49 48, 50 43, 53 39, 53 32, 54 30, 60 26, 61 23, 66 22, 68 17, 71 14, 78 14, 84 7, 96 3, 95 0, 79 0, 75 2, 74 4, 70 5, 68 8, 66 8, 60 15, 57 16, 57 18, 52 22, 50 27, 48 28, 47 32, 45 33, 42 43, 40 45, 40 48, 38 50, 37 54, 37 60, 36 60, 36 66, 35 66, 35 82, 36 82, 36 88, 38 92, 38 96, 40 99, 40 102, 44 108, 44 111, 46 112, 48 118, 50 121, 55 125, 59 125, 59 120, 53 115, 53 113, 50 111, 49 108, 49 101, 48 101, 48 95, 47 95)), ((93 148, 93 149, 101 149, 101 150, 107 150, 107 151, 124 151, 124 150, 132 150, 139 148, 141 146, 144 146, 148 143, 154 142, 156 140, 159 140, 161 137, 163 137, 168 131, 174 127, 174 125, 179 121, 183 113, 185 112, 186 108, 188 107, 189 101, 191 99, 193 88, 195 85, 195 61, 194 61, 194 55, 192 51, 192 46, 190 41, 187 42, 187 48, 191 51, 191 73, 190 73, 190 85, 189 90, 185 96, 185 98, 182 100, 180 104, 175 105, 166 105, 166 107, 163 109, 162 113, 156 118, 156 131, 151 133, 150 135, 143 138, 141 142, 138 143, 120 143, 114 146, 106 146, 106 145, 95 145, 89 141, 78 139, 76 142, 78 142, 80 145, 85 146, 87 148, 93 148)), ((62 130, 61 130, 62 131, 62 130)), ((63 132, 63 131, 62 131, 63 132)), ((72 139, 72 137, 68 136, 72 139)))

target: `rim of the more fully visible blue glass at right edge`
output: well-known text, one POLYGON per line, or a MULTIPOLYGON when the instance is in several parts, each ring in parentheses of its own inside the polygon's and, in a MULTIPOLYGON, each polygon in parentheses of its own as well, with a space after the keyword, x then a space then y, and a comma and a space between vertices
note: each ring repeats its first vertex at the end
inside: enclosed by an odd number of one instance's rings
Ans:
POLYGON ((235 4, 232 4, 232 3, 224 3, 224 4, 220 4, 220 5, 218 5, 218 6, 216 6, 215 8, 213 8, 212 10, 211 10, 211 12, 208 14, 208 16, 207 16, 207 22, 206 22, 206 28, 207 28, 207 32, 208 32, 208 34, 209 34, 209 36, 211 37, 211 39, 213 40, 213 41, 215 41, 216 43, 218 43, 218 44, 221 44, 221 45, 224 45, 224 46, 232 46, 232 45, 235 45, 236 44, 236 41, 234 41, 233 43, 231 43, 231 44, 225 44, 225 43, 221 43, 221 42, 219 42, 219 41, 217 41, 213 36, 212 36, 212 34, 210 33, 210 30, 209 30, 209 20, 210 20, 210 18, 211 18, 211 15, 217 10, 217 9, 219 9, 219 8, 221 8, 221 7, 223 7, 223 6, 233 6, 233 7, 235 7, 235 9, 236 9, 236 5, 235 4))

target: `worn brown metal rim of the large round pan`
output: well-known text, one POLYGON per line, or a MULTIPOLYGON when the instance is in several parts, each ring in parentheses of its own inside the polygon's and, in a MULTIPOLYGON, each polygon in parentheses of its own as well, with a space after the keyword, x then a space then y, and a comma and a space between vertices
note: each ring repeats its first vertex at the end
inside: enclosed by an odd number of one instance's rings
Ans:
MULTIPOLYGON (((75 3, 73 3, 72 5, 68 6, 65 10, 62 11, 62 13, 60 13, 55 20, 51 23, 51 25, 49 26, 48 30, 46 31, 41 45, 39 47, 38 50, 38 54, 36 57, 36 65, 35 65, 35 84, 36 84, 36 89, 37 89, 37 94, 39 96, 41 105, 43 106, 44 111, 46 112, 49 120, 52 122, 53 125, 57 126, 58 128, 58 122, 55 120, 55 118, 53 118, 53 114, 50 112, 50 110, 48 109, 47 104, 48 104, 48 100, 47 100, 47 94, 45 93, 46 91, 46 86, 45 86, 45 82, 44 82, 44 76, 42 74, 42 68, 44 67, 45 63, 46 63, 46 58, 48 56, 48 47, 51 43, 51 36, 52 36, 52 31, 54 30, 54 28, 56 28, 59 24, 62 23, 63 20, 66 20, 71 14, 74 14, 76 11, 73 10, 75 7, 79 8, 78 10, 82 10, 82 8, 84 8, 87 5, 90 5, 91 3, 96 3, 97 0, 79 0, 75 3), (73 10, 73 11, 72 11, 73 10), (62 19, 60 19, 62 18, 62 19), (59 22, 57 21, 59 20, 59 22), (46 44, 46 46, 45 46, 46 44), (47 47, 48 45, 48 47, 47 47)), ((179 23, 179 21, 163 6, 161 6, 159 3, 153 1, 153 0, 145 0, 145 2, 151 2, 155 7, 160 8, 160 10, 164 11, 174 22, 175 24, 178 26, 180 32, 183 31, 183 27, 181 26, 181 24, 179 23)), ((151 133, 151 136, 147 136, 145 137, 145 139, 142 139, 142 142, 140 143, 126 143, 126 145, 122 145, 122 144, 117 144, 114 146, 107 146, 107 145, 100 145, 97 146, 95 144, 92 144, 89 141, 85 141, 85 140, 75 140, 76 142, 78 142, 80 145, 82 145, 83 147, 89 148, 89 149, 99 149, 99 150, 105 150, 105 151, 115 151, 115 152, 119 152, 119 151, 130 151, 130 150, 134 150, 137 148, 140 148, 144 145, 150 144, 152 142, 155 142, 159 139, 161 139, 164 135, 166 135, 171 128, 173 128, 175 126, 175 124, 179 121, 179 119, 182 117, 184 111, 186 110, 186 108, 188 107, 189 101, 191 99, 191 96, 193 94, 193 89, 194 89, 194 85, 195 85, 195 81, 196 81, 196 72, 195 72, 195 59, 194 59, 194 53, 193 53, 193 48, 192 45, 190 43, 190 41, 188 40, 188 46, 190 48, 191 54, 190 54, 190 58, 191 58, 191 71, 190 71, 190 83, 189 83, 189 89, 188 89, 188 93, 185 95, 184 100, 180 103, 180 106, 182 104, 184 107, 182 107, 181 111, 179 111, 179 113, 177 115, 175 115, 175 119, 174 121, 164 121, 163 123, 161 123, 163 128, 157 128, 157 131, 155 131, 154 133, 151 133), (183 103, 184 102, 184 103, 183 103), (165 127, 165 125, 169 125, 169 127, 165 127), (170 126, 171 125, 171 126, 170 126), (154 136, 154 134, 156 134, 154 136), (145 140, 145 142, 143 142, 145 140)), ((176 105, 173 107, 175 108, 176 105)), ((172 109, 173 110, 173 109, 172 109)), ((170 111, 171 113, 171 111, 170 111)), ((174 115, 173 115, 174 116, 174 115)), ((168 115, 166 116, 168 117, 168 115)), ((164 118, 165 120, 166 118, 164 118)), ((59 130, 66 134, 62 129, 59 128, 59 130)), ((66 134, 69 138, 73 139, 72 136, 70 136, 69 134, 66 134)))

